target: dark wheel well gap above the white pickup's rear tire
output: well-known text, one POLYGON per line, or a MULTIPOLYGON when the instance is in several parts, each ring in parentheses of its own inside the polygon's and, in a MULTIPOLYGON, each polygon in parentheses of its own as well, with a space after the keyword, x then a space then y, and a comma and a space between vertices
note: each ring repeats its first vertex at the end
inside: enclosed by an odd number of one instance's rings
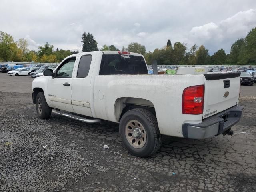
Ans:
POLYGON ((144 108, 152 112, 156 116, 156 111, 152 102, 141 98, 122 97, 115 102, 115 116, 119 122, 122 116, 129 110, 136 108, 144 108))

